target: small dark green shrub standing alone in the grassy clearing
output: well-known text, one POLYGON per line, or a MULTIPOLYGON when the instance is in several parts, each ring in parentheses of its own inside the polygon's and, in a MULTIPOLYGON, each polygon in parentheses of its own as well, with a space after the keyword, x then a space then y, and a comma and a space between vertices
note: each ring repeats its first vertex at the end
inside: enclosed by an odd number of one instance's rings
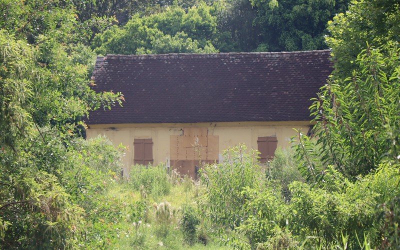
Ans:
POLYGON ((180 219, 180 226, 183 232, 185 241, 191 245, 197 240, 196 227, 200 223, 196 209, 190 205, 182 207, 182 217, 180 219))

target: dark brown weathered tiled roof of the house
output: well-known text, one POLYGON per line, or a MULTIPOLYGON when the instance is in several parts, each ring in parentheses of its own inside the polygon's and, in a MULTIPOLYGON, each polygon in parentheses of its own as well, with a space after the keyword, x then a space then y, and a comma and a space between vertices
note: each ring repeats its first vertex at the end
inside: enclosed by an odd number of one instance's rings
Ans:
POLYGON ((87 123, 310 120, 329 53, 107 54, 97 57, 94 89, 126 101, 90 112, 87 123))

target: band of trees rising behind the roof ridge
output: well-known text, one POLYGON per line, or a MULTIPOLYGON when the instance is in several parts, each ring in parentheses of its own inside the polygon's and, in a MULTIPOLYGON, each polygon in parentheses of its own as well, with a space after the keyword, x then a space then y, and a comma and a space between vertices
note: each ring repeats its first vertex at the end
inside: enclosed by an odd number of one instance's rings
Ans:
POLYGON ((327 48, 327 21, 345 11, 348 2, 163 1, 98 33, 92 48, 100 54, 322 49, 327 48))

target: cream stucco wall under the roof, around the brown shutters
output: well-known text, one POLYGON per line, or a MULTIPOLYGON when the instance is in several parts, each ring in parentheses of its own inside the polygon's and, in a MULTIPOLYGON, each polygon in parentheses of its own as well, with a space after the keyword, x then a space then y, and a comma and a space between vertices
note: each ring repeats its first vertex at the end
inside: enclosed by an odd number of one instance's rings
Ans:
POLYGON ((278 146, 287 147, 290 137, 295 135, 293 128, 307 133, 309 121, 265 121, 265 122, 216 122, 216 123, 143 123, 143 124, 96 124, 89 125, 87 138, 99 134, 106 135, 115 145, 122 143, 128 147, 123 157, 124 172, 133 163, 133 140, 152 138, 154 164, 169 164, 169 136, 181 135, 184 127, 207 127, 208 134, 218 135, 218 151, 238 143, 257 149, 257 137, 276 136, 278 146))

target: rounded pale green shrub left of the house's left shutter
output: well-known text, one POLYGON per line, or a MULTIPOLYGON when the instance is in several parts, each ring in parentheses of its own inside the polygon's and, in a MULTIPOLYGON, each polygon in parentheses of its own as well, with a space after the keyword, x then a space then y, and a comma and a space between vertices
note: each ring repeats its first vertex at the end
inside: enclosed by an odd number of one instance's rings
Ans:
POLYGON ((63 168, 61 183, 72 199, 85 210, 95 209, 95 197, 120 177, 122 153, 105 136, 89 140, 77 139, 71 144, 67 157, 69 164, 63 168))

